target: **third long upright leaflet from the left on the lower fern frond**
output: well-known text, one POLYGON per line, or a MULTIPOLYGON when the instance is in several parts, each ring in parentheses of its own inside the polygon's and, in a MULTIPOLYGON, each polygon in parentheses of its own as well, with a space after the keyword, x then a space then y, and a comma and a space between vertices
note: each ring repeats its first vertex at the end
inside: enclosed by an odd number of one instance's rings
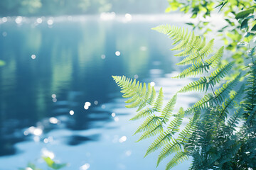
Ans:
POLYGON ((170 125, 167 127, 167 131, 174 135, 176 132, 178 132, 178 128, 181 126, 182 120, 184 118, 184 111, 183 108, 180 108, 178 111, 178 115, 174 120, 171 121, 170 125))

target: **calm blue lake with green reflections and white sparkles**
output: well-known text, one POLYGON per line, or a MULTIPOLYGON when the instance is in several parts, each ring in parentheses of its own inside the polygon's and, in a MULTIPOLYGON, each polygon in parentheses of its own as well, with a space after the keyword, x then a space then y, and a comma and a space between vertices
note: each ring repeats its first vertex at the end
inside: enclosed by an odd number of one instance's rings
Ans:
MULTIPOLYGON (((0 21, 1 170, 28 162, 47 169, 42 155, 71 170, 156 169, 159 152, 143 158, 153 139, 134 142, 141 122, 129 121, 136 110, 124 107, 111 76, 154 82, 169 100, 186 81, 171 79, 179 59, 171 40, 151 28, 183 26, 183 18, 110 13, 0 21)), ((193 100, 181 96, 178 103, 193 100)))

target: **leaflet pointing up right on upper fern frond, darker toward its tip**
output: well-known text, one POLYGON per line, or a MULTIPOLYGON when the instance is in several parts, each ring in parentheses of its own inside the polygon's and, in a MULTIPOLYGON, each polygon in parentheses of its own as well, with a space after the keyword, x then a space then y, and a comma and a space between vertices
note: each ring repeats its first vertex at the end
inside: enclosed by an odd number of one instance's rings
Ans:
POLYGON ((208 83, 215 86, 215 84, 220 82, 221 78, 225 77, 225 74, 228 74, 230 69, 232 69, 233 65, 234 62, 230 62, 228 64, 225 64, 223 67, 216 69, 208 77, 208 83))

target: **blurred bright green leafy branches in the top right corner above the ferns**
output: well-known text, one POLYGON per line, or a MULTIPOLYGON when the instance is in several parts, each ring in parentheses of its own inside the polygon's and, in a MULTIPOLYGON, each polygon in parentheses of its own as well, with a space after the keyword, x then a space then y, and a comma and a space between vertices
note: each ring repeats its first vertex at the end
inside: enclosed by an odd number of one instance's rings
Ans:
MULTIPOLYGON (((218 36, 225 43, 225 49, 229 50, 230 57, 233 57, 235 62, 235 72, 241 72, 244 64, 244 53, 247 48, 242 42, 251 40, 255 35, 255 1, 254 0, 168 0, 169 7, 166 12, 180 11, 181 13, 191 14, 191 23, 186 23, 192 26, 193 30, 206 35, 213 30, 219 23, 214 23, 208 20, 209 17, 215 15, 216 12, 221 13, 220 20, 223 20, 223 27, 218 30, 218 36), (204 19, 201 19, 204 18, 204 19), (243 33, 245 31, 245 33, 243 33), (248 39, 247 39, 248 38, 248 39), (239 44, 239 45, 238 45, 239 44)), ((227 60, 223 60, 223 62, 227 60)), ((230 75, 233 77, 233 74, 230 75)))

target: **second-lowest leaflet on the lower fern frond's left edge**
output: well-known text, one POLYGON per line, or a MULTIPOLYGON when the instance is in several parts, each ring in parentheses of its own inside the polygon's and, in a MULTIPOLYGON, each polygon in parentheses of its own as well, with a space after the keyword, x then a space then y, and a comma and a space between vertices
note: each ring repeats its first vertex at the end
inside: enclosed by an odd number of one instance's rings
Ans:
POLYGON ((181 145, 174 138, 172 138, 172 141, 169 142, 169 144, 166 145, 164 149, 161 151, 161 153, 159 154, 156 166, 159 166, 160 162, 166 157, 168 157, 170 154, 174 152, 180 152, 180 151, 181 151, 181 145))

